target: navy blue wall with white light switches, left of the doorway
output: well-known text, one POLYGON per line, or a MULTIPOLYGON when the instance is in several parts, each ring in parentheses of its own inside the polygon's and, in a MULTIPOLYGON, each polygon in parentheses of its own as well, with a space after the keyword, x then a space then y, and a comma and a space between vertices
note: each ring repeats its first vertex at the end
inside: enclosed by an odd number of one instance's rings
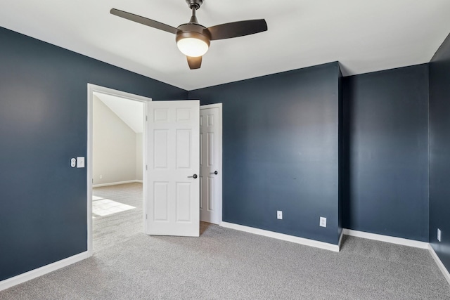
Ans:
POLYGON ((0 27, 0 280, 86 251, 87 84, 187 98, 160 81, 0 27))

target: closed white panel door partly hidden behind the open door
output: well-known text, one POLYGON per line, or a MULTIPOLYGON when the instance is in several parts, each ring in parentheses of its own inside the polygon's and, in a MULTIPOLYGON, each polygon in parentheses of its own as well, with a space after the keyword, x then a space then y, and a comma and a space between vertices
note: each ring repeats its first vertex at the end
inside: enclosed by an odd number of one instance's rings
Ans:
POLYGON ((215 224, 220 221, 219 126, 219 107, 200 107, 200 220, 215 224))

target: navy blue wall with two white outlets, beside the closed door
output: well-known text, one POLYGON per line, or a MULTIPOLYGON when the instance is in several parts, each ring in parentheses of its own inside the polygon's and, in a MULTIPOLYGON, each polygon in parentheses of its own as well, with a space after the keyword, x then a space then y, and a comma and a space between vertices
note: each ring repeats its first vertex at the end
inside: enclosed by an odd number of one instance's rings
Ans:
POLYGON ((224 103, 224 221, 338 243, 339 74, 329 63, 189 91, 224 103))

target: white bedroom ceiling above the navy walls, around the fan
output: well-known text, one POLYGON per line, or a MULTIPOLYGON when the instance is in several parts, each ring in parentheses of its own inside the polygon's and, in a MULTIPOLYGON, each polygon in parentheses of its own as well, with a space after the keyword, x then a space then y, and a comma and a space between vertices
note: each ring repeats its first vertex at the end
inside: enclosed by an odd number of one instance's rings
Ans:
POLYGON ((174 34, 110 8, 173 27, 191 16, 185 0, 11 0, 0 26, 186 90, 333 61, 344 75, 428 63, 450 32, 449 0, 205 0, 206 27, 265 18, 269 30, 212 41, 189 70, 174 34))

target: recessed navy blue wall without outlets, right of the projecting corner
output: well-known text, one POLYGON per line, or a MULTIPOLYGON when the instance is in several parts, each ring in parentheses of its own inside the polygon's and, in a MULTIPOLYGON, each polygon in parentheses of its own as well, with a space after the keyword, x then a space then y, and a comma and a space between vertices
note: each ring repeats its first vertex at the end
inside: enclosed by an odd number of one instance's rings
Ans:
POLYGON ((428 65, 344 79, 344 228, 428 242, 428 65))

